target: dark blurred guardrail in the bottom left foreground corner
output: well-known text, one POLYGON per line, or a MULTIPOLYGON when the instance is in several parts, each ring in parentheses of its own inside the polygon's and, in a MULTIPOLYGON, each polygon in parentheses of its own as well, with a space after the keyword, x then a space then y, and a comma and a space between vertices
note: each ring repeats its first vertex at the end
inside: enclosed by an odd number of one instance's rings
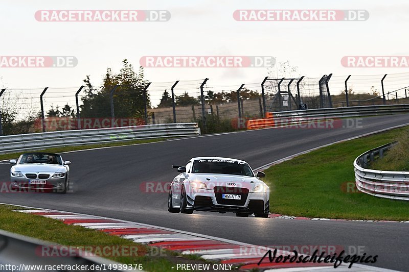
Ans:
MULTIPOLYGON (((81 256, 79 252, 74 252, 66 246, 45 242, 39 239, 0 230, 0 265, 5 266, 2 271, 65 271, 65 267, 87 267, 81 269, 86 271, 100 271, 100 267, 110 271, 124 271, 119 269, 108 269, 120 267, 117 262, 107 260, 97 256, 81 256), (50 253, 58 251, 56 256, 42 256, 42 252, 50 253), (8 265, 8 266, 6 266, 8 265), (42 265, 35 267, 35 265, 42 265), (52 269, 45 269, 55 267, 52 269), (57 268, 61 267, 61 268, 57 268)), ((70 270, 70 269, 69 269, 70 270)), ((76 270, 76 269, 73 269, 76 270)))

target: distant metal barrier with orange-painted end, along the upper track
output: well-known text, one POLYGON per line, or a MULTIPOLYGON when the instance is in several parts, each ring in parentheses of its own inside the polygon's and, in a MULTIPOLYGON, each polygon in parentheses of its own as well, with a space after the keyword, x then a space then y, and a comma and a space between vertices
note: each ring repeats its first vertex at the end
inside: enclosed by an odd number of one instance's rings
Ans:
POLYGON ((334 118, 362 117, 376 115, 390 115, 409 113, 409 105, 379 105, 344 108, 325 108, 297 111, 267 112, 266 118, 248 120, 248 130, 286 125, 300 125, 311 121, 320 121, 334 118))

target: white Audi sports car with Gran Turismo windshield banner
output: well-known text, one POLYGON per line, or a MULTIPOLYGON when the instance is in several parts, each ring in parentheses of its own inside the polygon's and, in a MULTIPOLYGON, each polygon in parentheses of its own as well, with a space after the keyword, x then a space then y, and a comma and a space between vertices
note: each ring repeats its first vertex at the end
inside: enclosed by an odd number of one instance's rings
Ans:
POLYGON ((230 158, 192 158, 169 188, 168 211, 235 212, 236 216, 268 217, 270 189, 245 162, 230 158))

